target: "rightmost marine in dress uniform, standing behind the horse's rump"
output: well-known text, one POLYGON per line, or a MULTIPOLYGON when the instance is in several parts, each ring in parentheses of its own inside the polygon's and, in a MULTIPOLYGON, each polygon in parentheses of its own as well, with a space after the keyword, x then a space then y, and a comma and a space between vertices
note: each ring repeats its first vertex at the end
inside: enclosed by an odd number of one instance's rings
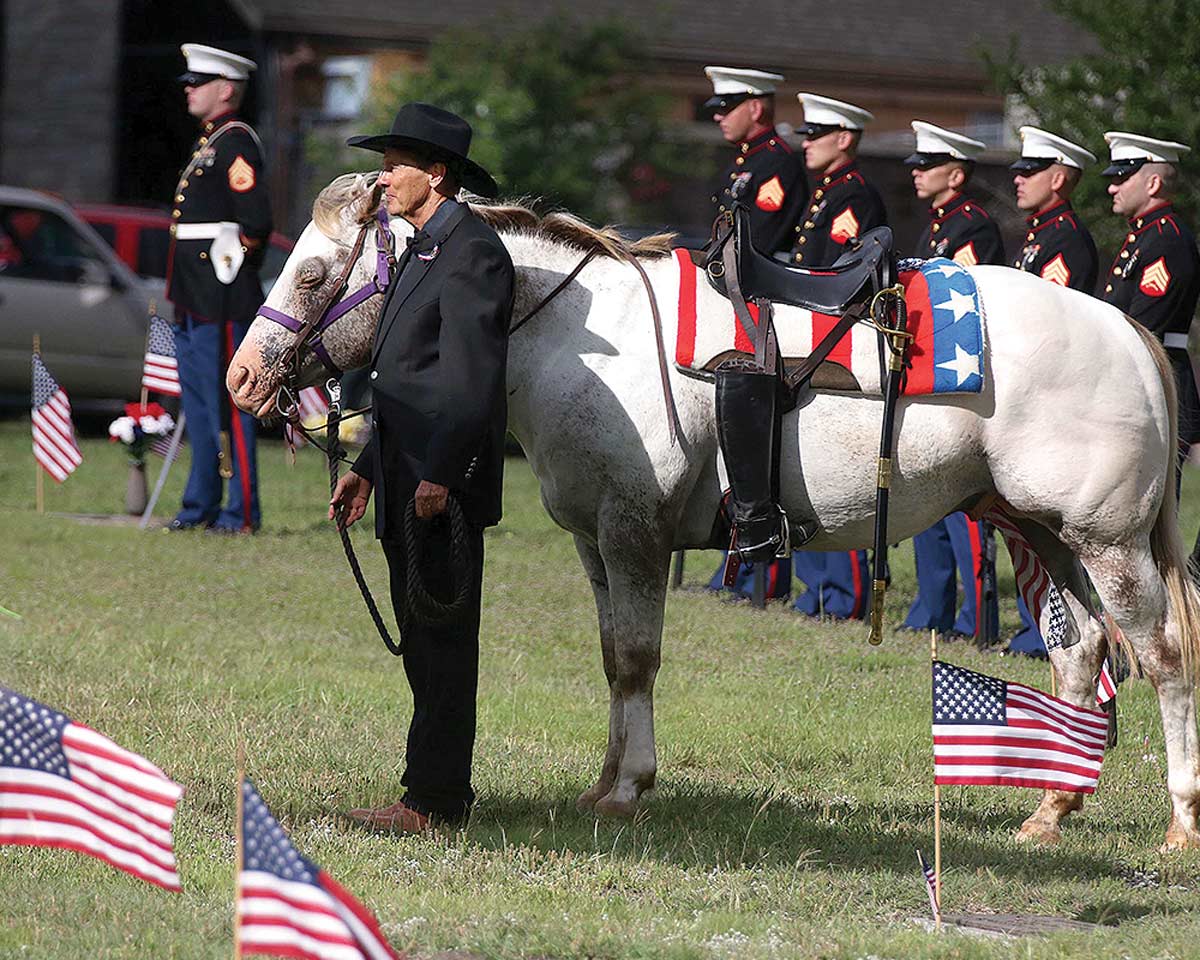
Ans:
POLYGON ((1129 232, 1109 270, 1103 299, 1166 347, 1180 390, 1182 458, 1200 440, 1200 400, 1188 356, 1188 330, 1200 298, 1200 254, 1195 236, 1171 205, 1171 188, 1180 155, 1190 148, 1120 131, 1105 133, 1104 139, 1111 151, 1103 175, 1111 178, 1112 212, 1128 218, 1129 232))

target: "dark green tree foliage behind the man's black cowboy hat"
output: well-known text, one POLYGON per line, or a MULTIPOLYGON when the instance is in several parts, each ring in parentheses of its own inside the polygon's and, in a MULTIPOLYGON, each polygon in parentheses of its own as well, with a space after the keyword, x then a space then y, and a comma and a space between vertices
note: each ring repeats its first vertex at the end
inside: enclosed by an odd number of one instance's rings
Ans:
POLYGON ((461 29, 380 88, 367 122, 388 130, 400 104, 434 103, 470 122, 470 156, 503 196, 594 221, 653 217, 683 152, 664 137, 665 100, 635 79, 646 62, 644 41, 617 19, 461 29))

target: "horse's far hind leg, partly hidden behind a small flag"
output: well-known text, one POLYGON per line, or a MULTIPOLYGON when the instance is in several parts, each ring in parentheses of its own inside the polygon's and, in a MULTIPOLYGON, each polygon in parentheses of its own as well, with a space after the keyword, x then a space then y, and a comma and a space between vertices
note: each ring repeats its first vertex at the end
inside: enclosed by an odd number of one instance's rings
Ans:
MULTIPOLYGON (((1108 638, 1104 625, 1092 610, 1084 569, 1070 548, 1045 527, 1025 518, 1014 518, 1014 522, 1045 565, 1079 631, 1078 643, 1050 650, 1050 664, 1058 680, 1057 695, 1078 707, 1092 707, 1096 703, 1096 676, 1108 652, 1108 638)), ((1042 619, 1045 623, 1045 617, 1042 619)), ((1038 626, 1042 629, 1042 624, 1038 626)), ((1016 832, 1016 839, 1057 844, 1062 839, 1063 818, 1082 808, 1082 793, 1046 790, 1037 810, 1016 832)))

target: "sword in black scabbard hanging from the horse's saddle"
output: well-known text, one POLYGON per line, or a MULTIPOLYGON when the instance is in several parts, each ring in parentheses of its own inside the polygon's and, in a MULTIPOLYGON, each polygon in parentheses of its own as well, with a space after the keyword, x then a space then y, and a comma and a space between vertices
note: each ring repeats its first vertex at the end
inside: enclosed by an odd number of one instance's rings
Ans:
POLYGON ((896 401, 900 397, 900 380, 904 378, 908 342, 912 340, 905 326, 907 308, 904 287, 896 283, 875 294, 870 317, 883 335, 888 348, 888 383, 883 395, 883 425, 880 431, 880 460, 875 480, 875 558, 871 577, 871 629, 868 641, 871 646, 883 642, 883 595, 888 588, 888 492, 892 488, 892 446, 895 433, 896 401))

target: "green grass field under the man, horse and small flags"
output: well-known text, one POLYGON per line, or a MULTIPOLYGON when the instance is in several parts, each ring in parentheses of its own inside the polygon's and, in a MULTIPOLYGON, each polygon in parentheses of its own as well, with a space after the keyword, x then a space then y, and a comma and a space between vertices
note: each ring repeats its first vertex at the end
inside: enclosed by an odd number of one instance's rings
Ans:
MULTIPOLYGON (((235 744, 301 851, 379 916, 397 948, 503 958, 1189 958, 1200 857, 1157 853, 1168 821, 1157 702, 1121 692, 1121 744, 1060 847, 1012 834, 1033 791, 947 787, 943 906, 1054 913, 1094 934, 937 936, 913 848, 931 851, 928 638, 671 595, 656 688, 659 787, 631 823, 575 797, 599 772, 607 691, 592 594, 524 463, 487 534, 480 799, 458 833, 366 833, 338 811, 400 794, 409 715, 323 521, 324 464, 264 443, 264 529, 140 534, 55 516, 119 512, 121 451, 85 461, 34 511, 28 421, 0 422, 0 684, 151 758, 187 787, 175 827, 182 895, 66 851, 0 847, 0 958, 232 953, 235 744)), ((178 503, 184 470, 164 497, 178 503)), ((1189 478, 1194 481, 1194 478, 1189 478)), ((1184 499, 1188 500, 1186 492, 1184 499)), ((1193 504, 1200 491, 1192 484, 1193 504)), ((164 512, 164 511, 161 511, 164 512)), ((1190 538, 1196 511, 1184 529, 1190 538)), ((366 532, 355 540, 385 589, 366 532)), ((691 554, 688 581, 715 554, 691 554)), ((894 553, 888 623, 913 589, 894 553)), ((1002 569, 1003 629, 1015 628, 1002 569)), ((1048 684, 1032 661, 943 649, 1048 684)))

